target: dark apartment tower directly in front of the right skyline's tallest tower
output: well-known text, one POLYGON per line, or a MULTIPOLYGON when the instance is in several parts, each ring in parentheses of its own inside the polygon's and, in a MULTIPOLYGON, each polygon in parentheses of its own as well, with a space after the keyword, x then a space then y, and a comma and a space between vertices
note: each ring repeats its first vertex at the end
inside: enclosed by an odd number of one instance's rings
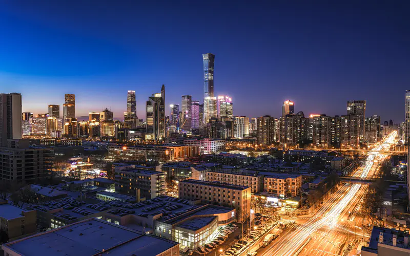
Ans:
POLYGON ((360 117, 346 115, 340 117, 340 146, 355 149, 359 145, 360 117))

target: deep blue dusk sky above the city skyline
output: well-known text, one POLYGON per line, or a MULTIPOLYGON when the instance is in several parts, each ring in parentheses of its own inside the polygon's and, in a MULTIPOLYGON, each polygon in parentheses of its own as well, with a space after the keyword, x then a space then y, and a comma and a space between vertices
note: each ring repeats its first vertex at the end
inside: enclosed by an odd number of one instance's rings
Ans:
POLYGON ((122 119, 135 90, 145 119, 161 84, 167 114, 181 95, 203 101, 211 52, 215 95, 233 98, 234 115, 279 117, 286 99, 305 115, 344 115, 365 99, 367 116, 403 121, 409 1, 222 2, 0 1, 0 92, 61 115, 74 93, 77 116, 108 107, 122 119))

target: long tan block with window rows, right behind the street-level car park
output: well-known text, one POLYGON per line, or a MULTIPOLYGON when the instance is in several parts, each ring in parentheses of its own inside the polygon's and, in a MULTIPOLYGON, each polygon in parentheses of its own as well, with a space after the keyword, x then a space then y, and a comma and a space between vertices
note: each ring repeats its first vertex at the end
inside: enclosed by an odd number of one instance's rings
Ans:
POLYGON ((180 181, 178 188, 181 199, 196 199, 235 208, 240 221, 251 212, 251 187, 249 186, 189 179, 180 181))

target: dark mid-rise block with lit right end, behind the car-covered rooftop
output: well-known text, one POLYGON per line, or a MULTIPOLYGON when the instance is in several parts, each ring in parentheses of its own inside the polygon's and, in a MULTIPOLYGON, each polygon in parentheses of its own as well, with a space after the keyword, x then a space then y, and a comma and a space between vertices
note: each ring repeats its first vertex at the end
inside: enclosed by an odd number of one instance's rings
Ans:
POLYGON ((154 170, 134 168, 115 169, 115 191, 148 199, 165 194, 165 174, 154 170))

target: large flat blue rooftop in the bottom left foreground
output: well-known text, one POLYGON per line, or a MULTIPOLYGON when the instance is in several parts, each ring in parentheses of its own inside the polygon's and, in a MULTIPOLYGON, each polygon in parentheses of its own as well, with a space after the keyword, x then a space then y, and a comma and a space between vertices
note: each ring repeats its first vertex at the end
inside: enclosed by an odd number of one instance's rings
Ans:
POLYGON ((90 256, 157 255, 177 244, 106 221, 88 219, 3 246, 30 256, 90 256))

